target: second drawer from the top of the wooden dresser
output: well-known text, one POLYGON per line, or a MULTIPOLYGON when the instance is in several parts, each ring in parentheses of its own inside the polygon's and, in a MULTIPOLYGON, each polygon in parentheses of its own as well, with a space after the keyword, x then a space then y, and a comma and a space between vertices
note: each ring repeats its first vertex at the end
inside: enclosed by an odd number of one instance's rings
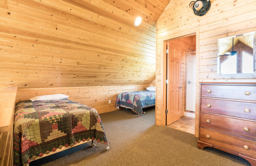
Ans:
POLYGON ((201 112, 255 120, 256 103, 201 98, 201 112))

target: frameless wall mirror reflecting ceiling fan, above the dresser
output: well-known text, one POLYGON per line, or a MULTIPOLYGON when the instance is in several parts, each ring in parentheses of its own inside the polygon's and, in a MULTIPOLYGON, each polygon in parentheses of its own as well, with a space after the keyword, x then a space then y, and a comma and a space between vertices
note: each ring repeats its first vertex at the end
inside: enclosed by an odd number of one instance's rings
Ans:
POLYGON ((255 73, 255 35, 218 39, 218 74, 255 73))

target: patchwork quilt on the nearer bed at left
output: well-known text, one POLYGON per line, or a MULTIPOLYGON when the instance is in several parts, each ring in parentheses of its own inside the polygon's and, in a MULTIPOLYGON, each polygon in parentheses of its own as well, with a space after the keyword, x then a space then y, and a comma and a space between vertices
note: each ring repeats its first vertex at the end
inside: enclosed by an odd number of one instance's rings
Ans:
POLYGON ((85 140, 108 144, 98 112, 68 99, 18 102, 13 137, 15 166, 85 140))

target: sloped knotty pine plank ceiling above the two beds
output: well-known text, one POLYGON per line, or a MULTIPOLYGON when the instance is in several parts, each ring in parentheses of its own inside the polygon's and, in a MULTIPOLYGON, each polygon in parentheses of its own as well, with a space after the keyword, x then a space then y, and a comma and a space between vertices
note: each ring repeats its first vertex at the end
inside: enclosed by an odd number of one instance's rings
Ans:
POLYGON ((150 84, 168 1, 1 0, 0 87, 150 84))

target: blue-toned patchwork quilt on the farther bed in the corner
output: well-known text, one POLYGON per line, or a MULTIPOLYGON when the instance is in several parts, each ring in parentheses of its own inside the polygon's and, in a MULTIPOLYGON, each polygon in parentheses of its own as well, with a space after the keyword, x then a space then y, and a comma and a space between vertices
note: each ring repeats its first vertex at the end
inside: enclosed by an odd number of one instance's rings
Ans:
POLYGON ((132 109, 140 116, 143 113, 142 108, 156 105, 156 92, 155 91, 134 91, 120 93, 116 99, 116 108, 119 106, 132 109))

